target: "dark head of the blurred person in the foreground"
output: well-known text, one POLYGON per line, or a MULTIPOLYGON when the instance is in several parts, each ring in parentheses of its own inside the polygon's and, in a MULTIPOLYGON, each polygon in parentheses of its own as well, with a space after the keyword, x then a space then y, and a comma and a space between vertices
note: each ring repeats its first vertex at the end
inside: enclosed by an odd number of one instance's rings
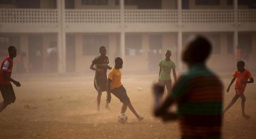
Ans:
POLYGON ((182 60, 187 64, 205 62, 212 51, 210 42, 203 36, 196 35, 189 39, 182 53, 182 60))

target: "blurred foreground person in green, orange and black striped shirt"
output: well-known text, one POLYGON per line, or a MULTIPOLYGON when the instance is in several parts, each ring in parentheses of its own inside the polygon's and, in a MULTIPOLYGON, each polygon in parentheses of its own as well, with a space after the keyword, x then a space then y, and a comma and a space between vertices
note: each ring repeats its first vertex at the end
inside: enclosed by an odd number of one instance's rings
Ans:
POLYGON ((189 71, 181 75, 162 103, 157 98, 163 93, 163 87, 153 86, 155 116, 164 121, 178 120, 182 139, 221 138, 223 85, 205 64, 211 50, 205 37, 193 36, 182 53, 189 71), (169 111, 175 103, 177 112, 169 111))

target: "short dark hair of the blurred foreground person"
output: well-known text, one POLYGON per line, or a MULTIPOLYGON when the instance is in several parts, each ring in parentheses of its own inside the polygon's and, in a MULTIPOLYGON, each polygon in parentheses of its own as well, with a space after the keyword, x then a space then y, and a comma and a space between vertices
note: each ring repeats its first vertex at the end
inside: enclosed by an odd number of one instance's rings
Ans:
POLYGON ((196 35, 189 39, 188 51, 192 61, 204 62, 211 54, 212 45, 207 38, 196 35))

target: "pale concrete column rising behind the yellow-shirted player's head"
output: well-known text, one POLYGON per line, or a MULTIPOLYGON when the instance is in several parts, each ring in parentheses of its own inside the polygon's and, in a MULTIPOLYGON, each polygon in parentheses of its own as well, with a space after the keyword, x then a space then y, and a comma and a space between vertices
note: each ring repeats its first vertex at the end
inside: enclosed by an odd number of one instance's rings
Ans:
MULTIPOLYGON (((121 12, 121 35, 120 35, 120 50, 121 58, 125 63, 125 32, 124 32, 124 0, 120 0, 120 12, 121 12)), ((123 66, 125 67, 125 66, 123 66)), ((124 68, 123 68, 124 69, 124 68)))

